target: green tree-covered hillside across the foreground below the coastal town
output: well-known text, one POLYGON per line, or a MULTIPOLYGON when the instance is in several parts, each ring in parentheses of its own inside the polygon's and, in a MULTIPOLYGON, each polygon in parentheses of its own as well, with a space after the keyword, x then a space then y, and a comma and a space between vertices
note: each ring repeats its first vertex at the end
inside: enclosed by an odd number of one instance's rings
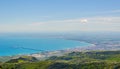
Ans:
POLYGON ((43 61, 23 56, 0 63, 0 69, 120 69, 120 51, 71 52, 43 61))

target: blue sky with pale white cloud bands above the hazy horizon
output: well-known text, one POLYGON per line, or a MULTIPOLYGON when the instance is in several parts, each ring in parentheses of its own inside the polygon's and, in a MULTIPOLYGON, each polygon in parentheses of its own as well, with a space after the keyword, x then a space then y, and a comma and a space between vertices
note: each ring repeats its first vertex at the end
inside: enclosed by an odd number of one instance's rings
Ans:
POLYGON ((0 33, 120 32, 120 0, 0 0, 0 33))

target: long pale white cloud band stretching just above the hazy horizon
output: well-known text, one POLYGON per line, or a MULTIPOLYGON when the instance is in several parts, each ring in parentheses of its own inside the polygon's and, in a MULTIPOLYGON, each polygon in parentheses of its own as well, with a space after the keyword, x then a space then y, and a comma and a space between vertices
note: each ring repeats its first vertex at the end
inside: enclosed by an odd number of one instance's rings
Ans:
POLYGON ((32 24, 0 24, 0 32, 120 31, 119 29, 120 17, 78 18, 32 24))

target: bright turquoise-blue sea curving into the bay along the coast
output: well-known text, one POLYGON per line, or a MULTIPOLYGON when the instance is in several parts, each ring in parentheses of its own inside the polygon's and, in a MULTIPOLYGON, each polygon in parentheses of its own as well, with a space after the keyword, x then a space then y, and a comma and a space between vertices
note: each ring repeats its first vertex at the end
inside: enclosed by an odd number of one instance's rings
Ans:
POLYGON ((0 56, 32 54, 88 45, 90 44, 60 38, 0 37, 0 56))

